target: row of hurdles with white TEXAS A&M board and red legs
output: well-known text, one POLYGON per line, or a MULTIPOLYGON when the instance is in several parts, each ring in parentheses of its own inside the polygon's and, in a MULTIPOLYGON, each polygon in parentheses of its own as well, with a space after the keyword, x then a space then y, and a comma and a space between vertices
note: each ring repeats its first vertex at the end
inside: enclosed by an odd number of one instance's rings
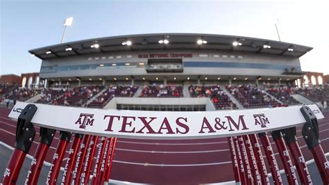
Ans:
POLYGON ((39 143, 25 184, 37 183, 56 131, 60 133, 59 143, 53 154, 46 184, 107 183, 111 177, 117 138, 170 140, 218 137, 228 140, 236 184, 271 184, 269 177, 273 184, 283 184, 279 159, 289 184, 312 184, 297 143, 298 125, 303 126, 303 139, 314 157, 323 184, 329 182, 329 163, 319 141, 318 120, 324 117, 316 105, 159 114, 17 102, 9 117, 17 119, 16 143, 3 175, 3 184, 17 183, 22 163, 38 129, 39 143), (62 113, 64 115, 58 118, 62 113), (292 116, 285 118, 282 115, 292 116), (67 150, 68 158, 63 163, 67 150), (280 158, 276 158, 275 150, 278 150, 280 158), (64 168, 63 177, 58 179, 61 167, 64 168))

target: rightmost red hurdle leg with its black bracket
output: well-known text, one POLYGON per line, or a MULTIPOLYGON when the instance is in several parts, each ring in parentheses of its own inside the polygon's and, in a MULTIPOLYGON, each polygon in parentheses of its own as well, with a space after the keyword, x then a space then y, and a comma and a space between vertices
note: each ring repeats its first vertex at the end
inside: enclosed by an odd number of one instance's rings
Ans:
POLYGON ((303 125, 302 134, 308 149, 311 150, 323 184, 329 184, 329 162, 321 147, 319 140, 319 125, 317 117, 307 106, 301 108, 306 123, 303 125))

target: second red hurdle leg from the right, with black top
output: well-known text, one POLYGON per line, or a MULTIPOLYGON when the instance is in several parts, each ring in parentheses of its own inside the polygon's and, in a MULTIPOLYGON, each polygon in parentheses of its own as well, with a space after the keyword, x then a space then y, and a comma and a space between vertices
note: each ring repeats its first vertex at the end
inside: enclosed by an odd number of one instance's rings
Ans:
POLYGON ((308 172, 304 156, 297 143, 296 127, 281 130, 283 138, 287 143, 290 152, 292 153, 292 160, 296 166, 298 177, 301 180, 301 184, 312 184, 310 172, 308 172))

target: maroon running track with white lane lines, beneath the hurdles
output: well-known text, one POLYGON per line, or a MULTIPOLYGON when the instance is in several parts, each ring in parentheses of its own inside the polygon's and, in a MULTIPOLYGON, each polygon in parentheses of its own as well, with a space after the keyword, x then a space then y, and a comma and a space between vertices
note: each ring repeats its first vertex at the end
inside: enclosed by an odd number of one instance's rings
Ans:
MULTIPOLYGON (((8 108, 0 108, 0 140, 13 146, 15 145, 16 122, 8 118, 9 112, 8 108)), ((326 153, 329 152, 329 112, 324 115, 326 118, 319 123, 319 129, 322 147, 326 153)), ((29 152, 32 156, 37 147, 39 128, 36 131, 35 143, 29 152)), ((52 161, 53 153, 58 145, 58 136, 59 132, 56 132, 56 138, 49 148, 46 161, 52 161)), ((312 159, 310 150, 301 138, 301 127, 297 127, 297 136, 305 160, 312 159)), ((276 145, 271 137, 270 140, 276 153, 276 145)), ((70 147, 69 145, 67 150, 70 147)), ((67 156, 66 154, 65 158, 67 156)), ((278 154, 276 154, 276 159, 282 169, 278 154)), ((114 160, 111 179, 120 181, 150 184, 201 184, 234 179, 226 138, 202 140, 118 138, 114 160)))

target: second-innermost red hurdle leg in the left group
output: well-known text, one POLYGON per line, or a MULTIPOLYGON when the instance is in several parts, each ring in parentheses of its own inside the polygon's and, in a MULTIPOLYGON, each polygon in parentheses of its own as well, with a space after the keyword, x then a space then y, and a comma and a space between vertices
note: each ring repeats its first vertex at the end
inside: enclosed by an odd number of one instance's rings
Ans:
POLYGON ((103 165, 103 159, 106 158, 104 157, 104 153, 107 152, 106 145, 108 145, 108 138, 107 137, 101 137, 101 143, 99 143, 99 151, 96 156, 96 163, 95 163, 95 168, 94 168, 94 173, 92 175, 92 184, 96 185, 99 184, 99 177, 101 175, 101 168, 103 165))

